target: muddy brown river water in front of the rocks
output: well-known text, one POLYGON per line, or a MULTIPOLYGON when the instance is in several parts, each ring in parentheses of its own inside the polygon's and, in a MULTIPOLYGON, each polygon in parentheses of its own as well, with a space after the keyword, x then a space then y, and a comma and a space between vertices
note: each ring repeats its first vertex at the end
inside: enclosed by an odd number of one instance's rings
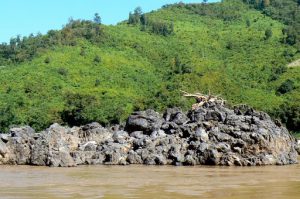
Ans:
POLYGON ((0 166, 0 198, 299 199, 300 165, 0 166))

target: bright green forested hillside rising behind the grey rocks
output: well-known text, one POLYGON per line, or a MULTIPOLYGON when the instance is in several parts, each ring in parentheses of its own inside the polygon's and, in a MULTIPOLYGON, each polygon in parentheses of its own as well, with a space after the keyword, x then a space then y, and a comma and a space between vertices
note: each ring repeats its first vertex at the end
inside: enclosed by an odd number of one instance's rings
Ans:
POLYGON ((300 58, 299 11, 296 0, 178 3, 150 13, 137 8, 116 26, 95 15, 13 38, 0 45, 0 130, 187 109, 185 90, 249 104, 297 131, 300 67, 287 65, 300 58))

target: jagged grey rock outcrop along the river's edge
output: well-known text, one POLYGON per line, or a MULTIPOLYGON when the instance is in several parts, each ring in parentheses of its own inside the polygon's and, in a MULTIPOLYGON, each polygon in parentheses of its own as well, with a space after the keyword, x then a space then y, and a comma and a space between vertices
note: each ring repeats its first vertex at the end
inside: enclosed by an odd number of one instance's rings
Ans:
POLYGON ((297 163, 299 143, 287 129, 247 106, 206 103, 188 113, 135 112, 121 126, 53 124, 0 134, 0 164, 76 165, 286 165, 297 163))

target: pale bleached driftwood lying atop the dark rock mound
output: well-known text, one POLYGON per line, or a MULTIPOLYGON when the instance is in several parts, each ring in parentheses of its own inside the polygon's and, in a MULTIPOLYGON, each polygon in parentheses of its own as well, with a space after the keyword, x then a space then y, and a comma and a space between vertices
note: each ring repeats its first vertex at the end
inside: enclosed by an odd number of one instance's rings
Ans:
POLYGON ((188 93, 185 91, 181 91, 183 93, 184 97, 193 97, 196 99, 196 104, 192 105, 192 109, 195 110, 199 107, 202 107, 204 104, 209 103, 209 102, 213 102, 213 103, 217 103, 220 105, 224 105, 225 104, 225 100, 222 99, 220 96, 214 96, 211 95, 211 93, 209 92, 208 95, 202 94, 202 93, 188 93))

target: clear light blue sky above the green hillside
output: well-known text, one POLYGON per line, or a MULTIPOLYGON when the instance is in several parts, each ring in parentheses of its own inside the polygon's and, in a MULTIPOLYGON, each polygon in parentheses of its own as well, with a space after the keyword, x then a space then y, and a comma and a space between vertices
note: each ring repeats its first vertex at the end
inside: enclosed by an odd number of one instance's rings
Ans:
MULTIPOLYGON (((0 0, 0 43, 17 35, 47 33, 61 29, 68 19, 93 19, 99 13, 103 24, 116 24, 141 6, 144 12, 180 0, 0 0)), ((216 2, 218 0, 209 0, 216 2)), ((201 3, 202 0, 182 0, 201 3)))

